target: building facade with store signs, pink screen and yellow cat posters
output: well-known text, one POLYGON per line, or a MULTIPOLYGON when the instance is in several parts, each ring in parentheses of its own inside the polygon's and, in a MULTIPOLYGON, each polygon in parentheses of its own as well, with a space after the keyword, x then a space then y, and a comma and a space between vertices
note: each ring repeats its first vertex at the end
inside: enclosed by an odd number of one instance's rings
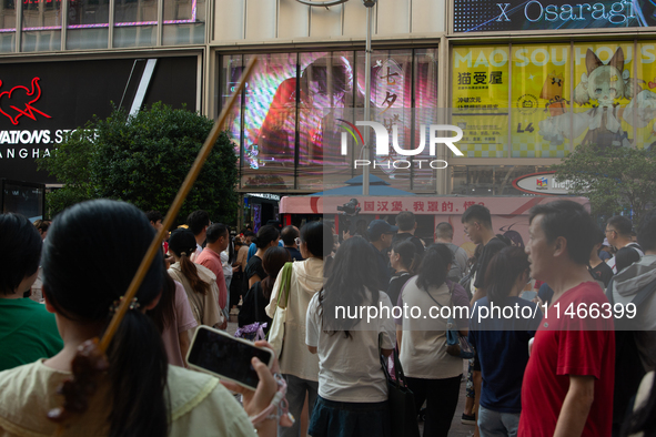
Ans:
MULTIPOLYGON (((463 138, 462 156, 447 148, 372 154, 372 174, 415 194, 525 194, 532 190, 514 181, 547 171, 581 143, 649 146, 654 6, 567 1, 379 0, 372 120, 396 124, 408 150, 430 124, 456 125, 463 138), (398 157, 408 167, 391 165, 398 157), (422 159, 447 165, 422 166, 422 159)), ((307 2, 4 0, 2 176, 55 182, 36 172, 31 157, 55 146, 58 132, 109 113, 110 100, 131 110, 185 103, 215 118, 258 55, 228 125, 239 191, 290 195, 343 185, 362 172, 354 160, 367 157, 357 135, 343 133, 364 106, 367 11, 360 0, 307 2), (342 154, 344 138, 350 150, 342 154)))

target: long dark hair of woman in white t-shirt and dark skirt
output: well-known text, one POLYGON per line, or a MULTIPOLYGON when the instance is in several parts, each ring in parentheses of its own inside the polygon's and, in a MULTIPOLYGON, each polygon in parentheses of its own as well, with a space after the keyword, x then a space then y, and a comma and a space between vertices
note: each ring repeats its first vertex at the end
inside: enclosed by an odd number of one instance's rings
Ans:
POLYGON ((343 331, 346 338, 352 338, 349 329, 360 322, 360 317, 337 318, 335 308, 353 309, 366 304, 367 289, 371 292, 372 305, 377 304, 381 272, 374 251, 370 243, 359 236, 340 245, 325 286, 319 292, 317 314, 324 323, 324 332, 332 335, 343 331))

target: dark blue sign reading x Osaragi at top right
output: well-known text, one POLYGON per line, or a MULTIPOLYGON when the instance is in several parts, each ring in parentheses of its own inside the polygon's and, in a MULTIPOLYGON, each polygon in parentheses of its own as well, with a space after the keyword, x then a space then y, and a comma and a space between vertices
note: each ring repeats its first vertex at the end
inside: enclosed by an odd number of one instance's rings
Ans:
POLYGON ((649 0, 455 0, 455 32, 646 28, 656 26, 649 0))

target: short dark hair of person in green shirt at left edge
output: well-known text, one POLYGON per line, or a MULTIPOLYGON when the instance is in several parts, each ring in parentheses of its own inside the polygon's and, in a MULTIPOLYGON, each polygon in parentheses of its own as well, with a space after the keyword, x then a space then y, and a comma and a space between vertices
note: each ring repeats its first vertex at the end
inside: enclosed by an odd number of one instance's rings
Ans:
POLYGON ((0 214, 0 294, 8 295, 39 270, 43 242, 37 227, 14 213, 0 214))

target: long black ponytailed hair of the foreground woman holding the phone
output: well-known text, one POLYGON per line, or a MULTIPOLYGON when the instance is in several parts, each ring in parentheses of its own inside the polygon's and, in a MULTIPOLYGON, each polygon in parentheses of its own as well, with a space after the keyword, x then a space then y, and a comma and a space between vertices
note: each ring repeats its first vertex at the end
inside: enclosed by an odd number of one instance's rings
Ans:
MULTIPOLYGON (((128 289, 154 234, 145 214, 128 203, 97 200, 63 211, 52 223, 43 248, 48 302, 62 317, 107 327, 110 306, 128 289)), ((158 298, 163 274, 158 251, 137 293, 142 307, 158 298)), ((110 436, 165 436, 169 360, 150 317, 128 311, 107 355, 110 436)))

